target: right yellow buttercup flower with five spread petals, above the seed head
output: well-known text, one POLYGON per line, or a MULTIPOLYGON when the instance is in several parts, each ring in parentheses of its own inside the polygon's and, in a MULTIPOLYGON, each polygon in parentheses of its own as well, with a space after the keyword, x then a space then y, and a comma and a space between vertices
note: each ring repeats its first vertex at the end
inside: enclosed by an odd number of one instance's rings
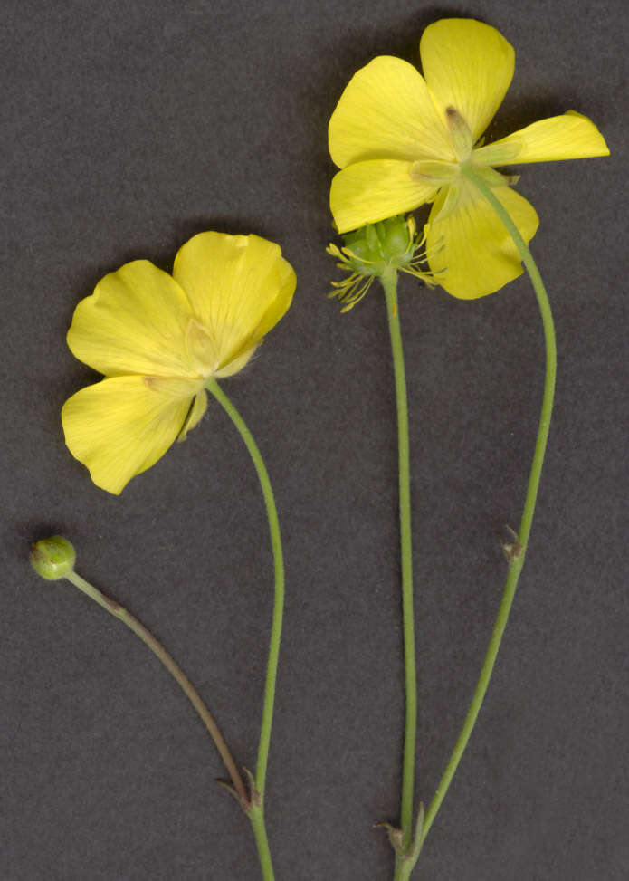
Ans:
POLYGON ((425 229, 431 270, 447 292, 473 299, 497 291, 522 267, 499 217, 460 168, 469 163, 481 173, 529 242, 538 215, 510 188, 513 179, 493 167, 609 150, 594 123, 573 110, 481 146, 515 57, 490 25, 435 22, 422 35, 420 55, 424 76, 382 55, 349 81, 329 120, 329 152, 342 169, 330 207, 344 233, 432 202, 425 229))

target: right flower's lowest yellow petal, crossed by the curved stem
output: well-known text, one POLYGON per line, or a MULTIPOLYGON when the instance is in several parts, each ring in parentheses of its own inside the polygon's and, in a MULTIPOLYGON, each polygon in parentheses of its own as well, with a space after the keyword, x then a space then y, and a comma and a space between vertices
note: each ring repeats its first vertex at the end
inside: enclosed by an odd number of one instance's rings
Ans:
MULTIPOLYGON (((510 187, 495 187, 525 242, 538 228, 530 203, 510 187)), ((442 287, 462 300, 474 300, 498 291, 522 273, 518 250, 489 202, 465 178, 460 201, 448 215, 434 222, 443 202, 434 203, 426 227, 426 249, 431 270, 442 287), (443 273, 442 275, 438 273, 443 273)))

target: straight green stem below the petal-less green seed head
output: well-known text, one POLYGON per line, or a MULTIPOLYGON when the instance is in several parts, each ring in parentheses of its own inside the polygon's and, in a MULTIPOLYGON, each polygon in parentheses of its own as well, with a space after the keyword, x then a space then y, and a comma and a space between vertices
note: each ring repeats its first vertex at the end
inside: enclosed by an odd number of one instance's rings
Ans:
POLYGON ((415 735, 417 728, 417 676, 415 666, 415 622, 413 613, 413 556, 411 549, 411 478, 408 455, 408 403, 404 351, 400 319, 397 311, 397 273, 389 269, 381 276, 385 289, 386 314, 391 336, 393 369, 396 378, 397 452, 400 503, 400 557, 402 568, 402 618, 404 627, 405 665, 405 738, 402 762, 402 797, 400 800, 400 828, 402 847, 407 849, 413 825, 413 796, 415 791, 415 735))

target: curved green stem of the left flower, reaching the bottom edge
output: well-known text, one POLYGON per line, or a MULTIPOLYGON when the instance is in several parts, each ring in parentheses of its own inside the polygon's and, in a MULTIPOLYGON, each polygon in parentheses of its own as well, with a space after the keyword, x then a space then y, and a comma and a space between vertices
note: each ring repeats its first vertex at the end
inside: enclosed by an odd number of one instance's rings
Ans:
POLYGON ((273 565, 275 570, 275 594, 273 603, 273 615, 271 626, 271 640, 269 644, 269 657, 266 669, 266 684, 264 686, 264 699, 262 704, 262 724, 260 729, 260 742, 258 745, 258 761, 255 771, 255 793, 260 800, 257 809, 253 809, 249 818, 252 821, 253 832, 258 845, 260 861, 262 864, 262 874, 265 881, 271 881, 273 878, 273 870, 271 863, 271 855, 269 853, 269 845, 264 830, 263 804, 264 804, 264 788, 266 785, 266 771, 269 762, 269 744, 271 742, 271 729, 273 720, 273 704, 275 701, 275 683, 277 681, 278 659, 280 656, 281 641, 281 621, 284 610, 284 562, 281 551, 280 522, 277 516, 277 508, 271 488, 271 481, 266 466, 262 460, 262 455, 258 449, 253 436, 247 426, 244 424, 243 417, 233 406, 233 403, 227 397, 222 388, 215 379, 208 379, 205 382, 205 388, 214 395, 224 411, 232 419, 233 425, 238 429, 240 436, 243 438, 244 444, 249 451, 258 474, 258 479, 262 487, 262 495, 266 504, 266 513, 269 519, 269 531, 271 532, 271 545, 273 553, 273 565))

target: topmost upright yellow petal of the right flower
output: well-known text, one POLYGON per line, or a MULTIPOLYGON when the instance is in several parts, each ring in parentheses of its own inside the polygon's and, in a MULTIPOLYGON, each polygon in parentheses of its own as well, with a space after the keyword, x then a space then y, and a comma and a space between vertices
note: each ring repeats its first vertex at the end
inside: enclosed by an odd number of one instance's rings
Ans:
POLYGON ((429 24, 419 44, 424 79, 443 112, 453 107, 477 140, 509 89, 513 47, 489 24, 443 18, 429 24))

